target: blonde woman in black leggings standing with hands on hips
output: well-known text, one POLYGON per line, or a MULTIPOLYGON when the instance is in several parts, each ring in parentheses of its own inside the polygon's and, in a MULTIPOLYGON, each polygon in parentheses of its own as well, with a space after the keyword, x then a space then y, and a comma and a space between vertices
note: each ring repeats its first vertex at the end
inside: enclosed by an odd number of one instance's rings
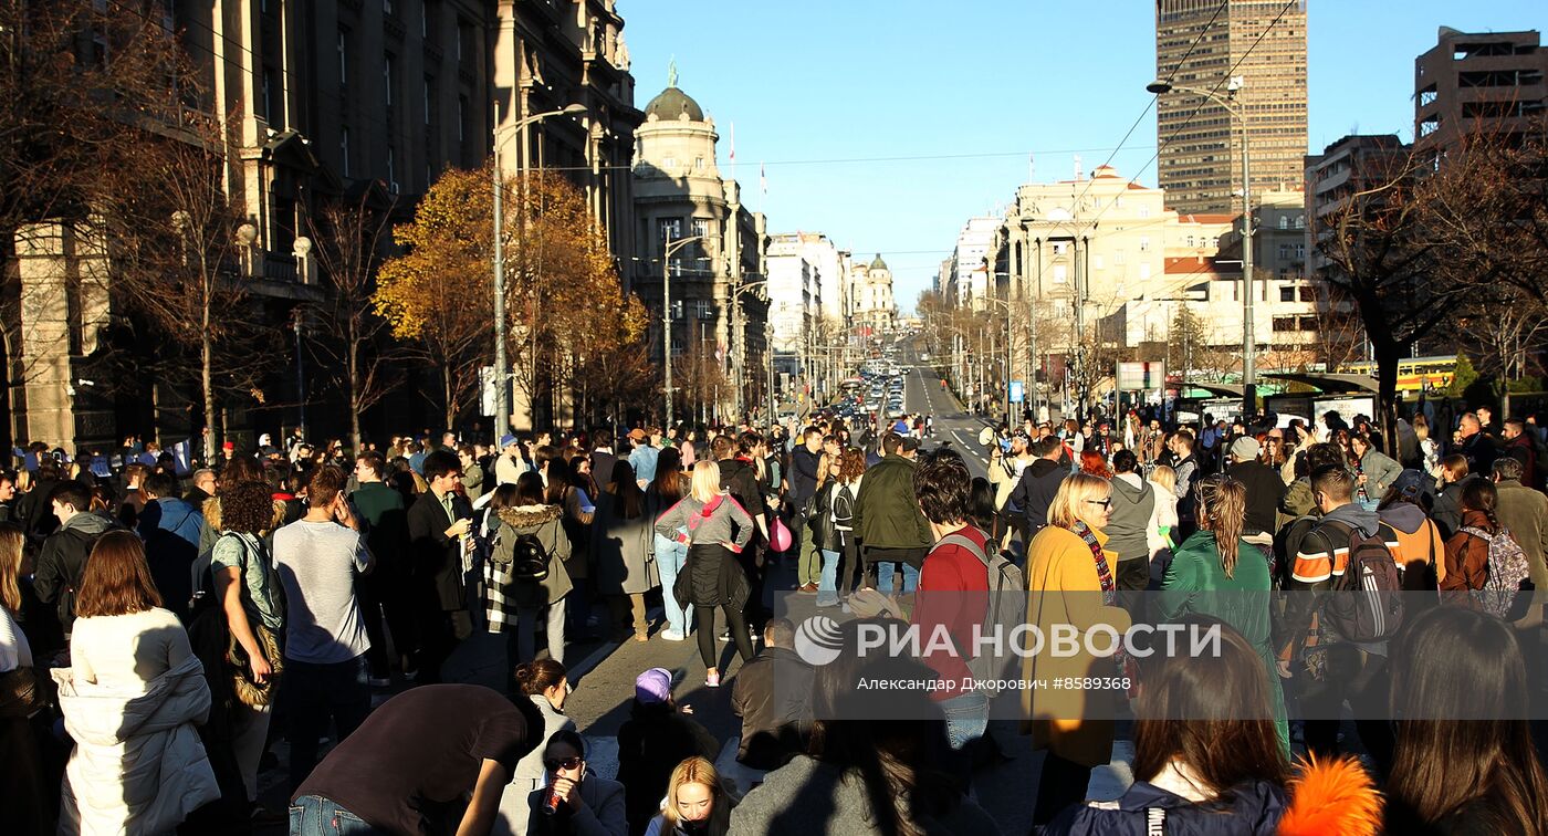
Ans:
POLYGON ((661 514, 656 534, 687 543, 687 562, 678 574, 678 604, 694 605, 694 630, 698 632, 698 655, 707 673, 704 684, 720 687, 715 666, 715 607, 726 613, 726 625, 737 642, 741 663, 752 661, 752 636, 741 608, 748 602, 748 576, 735 553, 752 537, 752 517, 720 489, 720 464, 698 461, 687 497, 661 514))

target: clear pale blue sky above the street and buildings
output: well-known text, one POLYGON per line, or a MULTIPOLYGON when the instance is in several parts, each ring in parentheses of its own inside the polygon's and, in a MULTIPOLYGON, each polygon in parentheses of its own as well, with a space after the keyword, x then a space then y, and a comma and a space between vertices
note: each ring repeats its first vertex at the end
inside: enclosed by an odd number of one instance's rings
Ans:
MULTIPOLYGON (((1152 96, 1149 0, 619 0, 635 104, 667 82, 731 125, 743 200, 771 232, 820 231, 881 252, 910 310, 971 215, 1028 178, 1104 163, 1152 96), (890 158, 890 159, 887 159, 890 158), (759 192, 759 163, 768 197, 759 192)), ((1413 59, 1441 25, 1548 29, 1543 0, 1310 0, 1310 138, 1413 133, 1413 59)), ((1113 166, 1155 184, 1155 111, 1113 166)))

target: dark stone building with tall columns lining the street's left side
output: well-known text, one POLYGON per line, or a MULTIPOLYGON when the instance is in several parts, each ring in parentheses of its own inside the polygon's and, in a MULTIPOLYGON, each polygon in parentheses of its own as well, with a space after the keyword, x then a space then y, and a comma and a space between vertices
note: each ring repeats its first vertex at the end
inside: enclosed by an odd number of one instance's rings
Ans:
MULTIPOLYGON (((621 263, 635 251, 630 159, 644 115, 633 107, 616 0, 167 2, 163 17, 201 74, 201 105, 226 121, 235 144, 224 184, 248 223, 232 279, 248 282, 282 322, 325 293, 327 277, 308 259, 305 240, 324 200, 379 192, 398 220, 407 220, 443 170, 483 164, 497 132, 506 170, 562 170, 585 190, 621 263), (571 104, 585 113, 514 127, 571 104)), ((19 271, 34 285, 82 271, 111 276, 111 265, 94 266, 101 248, 82 243, 88 240, 85 231, 45 229, 37 246, 22 248, 19 271)), ((91 403, 71 381, 82 378, 80 351, 94 339, 94 314, 82 317, 91 311, 73 307, 63 317, 70 333, 56 339, 46 336, 57 330, 56 313, 23 305, 22 322, 9 324, 29 334, 28 345, 14 347, 12 365, 60 368, 11 381, 14 443, 197 435, 197 421, 211 421, 187 409, 187 392, 153 389, 132 404, 91 403), (73 372, 63 373, 65 365, 73 372)), ((99 313, 105 320, 108 311, 99 313)), ((300 356, 316 359, 305 333, 299 345, 300 356)), ((320 385, 320 375, 313 381, 303 390, 300 381, 276 381, 279 396, 271 401, 283 407, 224 404, 232 432, 245 441, 279 433, 300 420, 297 404, 307 401, 324 404, 307 413, 324 420, 317 430, 336 432, 336 393, 320 385)), ((384 410, 433 421, 438 410, 420 401, 384 410)))

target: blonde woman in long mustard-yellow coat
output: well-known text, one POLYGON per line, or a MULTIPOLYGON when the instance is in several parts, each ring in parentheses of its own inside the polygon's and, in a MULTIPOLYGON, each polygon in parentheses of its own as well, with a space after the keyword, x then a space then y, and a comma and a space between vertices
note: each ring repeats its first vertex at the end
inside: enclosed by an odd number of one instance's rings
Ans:
POLYGON ((1130 625, 1128 612, 1116 601, 1118 556, 1102 548, 1111 492, 1102 477, 1067 477, 1048 508, 1048 526, 1026 550, 1026 621, 1037 627, 1043 646, 1023 667, 1031 683, 1022 690, 1023 731, 1033 735, 1033 748, 1048 749, 1034 825, 1085 800, 1091 768, 1113 754, 1113 717, 1127 697, 1108 650, 1113 636, 1121 639, 1130 625), (1071 629, 1077 639, 1073 653, 1054 641, 1071 629))

